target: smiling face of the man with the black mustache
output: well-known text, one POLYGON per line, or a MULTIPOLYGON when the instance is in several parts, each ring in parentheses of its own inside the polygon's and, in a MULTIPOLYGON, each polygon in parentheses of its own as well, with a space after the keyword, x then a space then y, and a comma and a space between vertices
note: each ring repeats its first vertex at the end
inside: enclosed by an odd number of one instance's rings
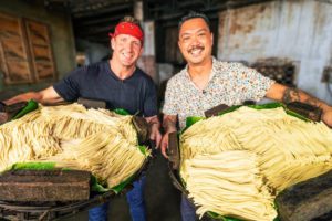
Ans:
POLYGON ((178 46, 189 65, 209 61, 212 42, 212 33, 204 19, 194 18, 181 24, 178 46))

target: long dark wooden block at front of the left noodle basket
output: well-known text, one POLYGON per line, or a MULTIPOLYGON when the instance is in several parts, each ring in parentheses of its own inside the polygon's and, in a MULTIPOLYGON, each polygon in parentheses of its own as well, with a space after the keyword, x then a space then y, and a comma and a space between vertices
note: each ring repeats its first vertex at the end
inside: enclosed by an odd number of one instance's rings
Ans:
POLYGON ((0 176, 3 201, 77 201, 90 197, 89 171, 17 170, 0 176))

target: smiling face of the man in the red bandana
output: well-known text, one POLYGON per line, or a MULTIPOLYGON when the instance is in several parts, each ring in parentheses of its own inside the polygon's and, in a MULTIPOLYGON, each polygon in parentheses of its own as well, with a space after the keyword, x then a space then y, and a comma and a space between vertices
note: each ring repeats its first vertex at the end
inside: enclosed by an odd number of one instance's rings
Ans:
POLYGON ((133 67, 143 52, 142 43, 135 36, 118 34, 111 40, 113 56, 120 65, 133 67))

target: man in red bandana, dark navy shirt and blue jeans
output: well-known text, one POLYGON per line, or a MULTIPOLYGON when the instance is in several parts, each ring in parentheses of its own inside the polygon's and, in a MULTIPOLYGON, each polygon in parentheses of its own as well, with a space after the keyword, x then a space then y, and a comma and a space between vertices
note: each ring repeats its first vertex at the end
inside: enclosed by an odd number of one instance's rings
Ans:
MULTIPOLYGON (((42 104, 54 104, 75 102, 79 97, 104 101, 110 109, 123 108, 129 114, 144 116, 151 125, 151 139, 158 147, 162 136, 156 88, 153 80, 136 66, 143 52, 143 31, 134 18, 126 17, 110 36, 113 50, 110 61, 76 69, 53 86, 18 95, 4 103, 8 105, 32 98, 42 104)), ((146 220, 144 182, 145 177, 135 181, 133 190, 126 196, 134 221, 146 220)), ((107 204, 91 209, 89 219, 107 220, 107 204)))

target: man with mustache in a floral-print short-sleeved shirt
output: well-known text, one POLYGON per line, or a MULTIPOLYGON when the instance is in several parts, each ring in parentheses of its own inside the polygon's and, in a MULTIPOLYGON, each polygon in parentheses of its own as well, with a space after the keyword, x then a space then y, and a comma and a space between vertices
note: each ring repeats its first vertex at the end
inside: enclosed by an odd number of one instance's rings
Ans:
MULTIPOLYGON (((173 76, 166 87, 163 107, 162 154, 167 158, 168 134, 185 127, 188 116, 204 116, 204 112, 219 104, 228 106, 245 101, 268 97, 283 103, 302 102, 320 107, 322 120, 332 126, 332 107, 307 93, 283 86, 239 63, 217 61, 211 55, 214 35, 209 20, 203 13, 190 12, 178 25, 178 46, 187 66, 173 76)), ((184 221, 196 220, 195 209, 185 196, 180 204, 184 221)))

